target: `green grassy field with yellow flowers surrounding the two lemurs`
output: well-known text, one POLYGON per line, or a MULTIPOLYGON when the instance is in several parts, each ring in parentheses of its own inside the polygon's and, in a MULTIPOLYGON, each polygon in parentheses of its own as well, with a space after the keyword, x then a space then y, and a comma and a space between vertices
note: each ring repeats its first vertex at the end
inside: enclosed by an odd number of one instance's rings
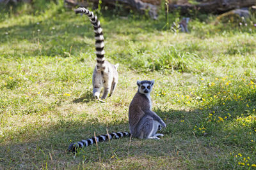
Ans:
POLYGON ((0 169, 256 169, 256 20, 214 25, 214 16, 200 15, 184 34, 166 31, 164 15, 100 13, 106 58, 120 64, 120 80, 99 103, 92 25, 62 4, 49 6, 1 13, 0 169), (67 152, 94 132, 129 131, 136 80, 152 79, 152 108, 167 124, 161 140, 67 152))

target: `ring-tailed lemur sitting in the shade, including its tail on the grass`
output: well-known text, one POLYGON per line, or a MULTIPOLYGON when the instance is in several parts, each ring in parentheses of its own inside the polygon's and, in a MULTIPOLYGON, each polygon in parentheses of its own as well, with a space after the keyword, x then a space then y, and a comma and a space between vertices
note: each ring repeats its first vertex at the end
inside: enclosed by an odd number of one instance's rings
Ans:
POLYGON ((68 151, 76 152, 79 148, 84 148, 93 143, 106 141, 113 138, 121 138, 124 136, 131 136, 143 139, 159 139, 157 136, 163 136, 163 134, 157 134, 161 127, 166 127, 163 120, 157 116, 157 114, 151 110, 151 98, 150 92, 154 85, 154 80, 137 81, 138 92, 132 99, 129 106, 129 132, 116 132, 111 134, 105 134, 95 137, 81 140, 76 143, 71 143, 68 146, 68 151))

